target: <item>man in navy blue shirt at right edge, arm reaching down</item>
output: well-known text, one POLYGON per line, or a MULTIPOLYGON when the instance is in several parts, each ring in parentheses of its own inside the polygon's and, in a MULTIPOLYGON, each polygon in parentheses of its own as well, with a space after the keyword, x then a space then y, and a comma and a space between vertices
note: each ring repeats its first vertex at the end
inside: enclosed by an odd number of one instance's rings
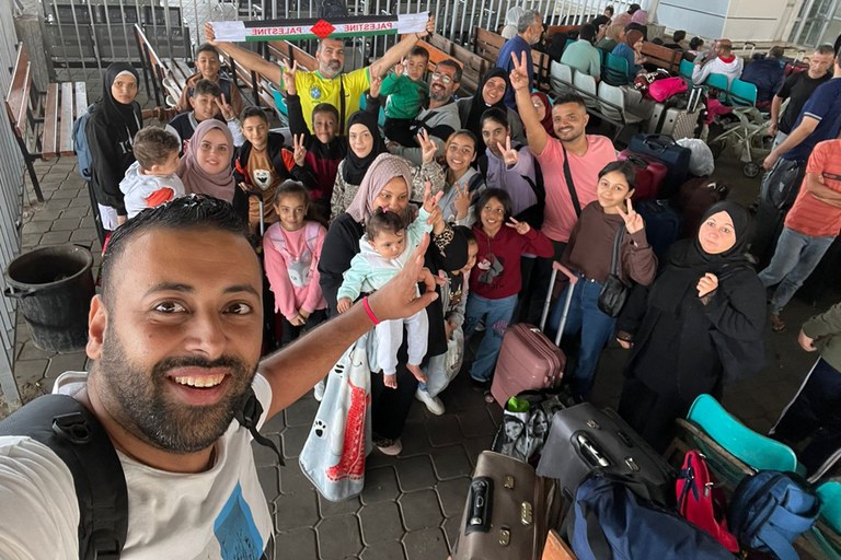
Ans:
POLYGON ((832 79, 819 85, 803 106, 792 133, 762 162, 757 230, 750 252, 761 265, 773 255, 783 220, 797 197, 806 162, 818 142, 841 132, 841 60, 836 55, 832 79))

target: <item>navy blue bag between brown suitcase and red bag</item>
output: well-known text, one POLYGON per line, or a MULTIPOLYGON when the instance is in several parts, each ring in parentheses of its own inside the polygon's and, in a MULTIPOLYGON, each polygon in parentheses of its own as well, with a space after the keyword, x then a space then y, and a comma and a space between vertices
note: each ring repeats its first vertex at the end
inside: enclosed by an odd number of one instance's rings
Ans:
POLYGON ((632 488, 647 493, 635 480, 604 474, 578 487, 564 522, 578 560, 734 560, 710 534, 632 488))

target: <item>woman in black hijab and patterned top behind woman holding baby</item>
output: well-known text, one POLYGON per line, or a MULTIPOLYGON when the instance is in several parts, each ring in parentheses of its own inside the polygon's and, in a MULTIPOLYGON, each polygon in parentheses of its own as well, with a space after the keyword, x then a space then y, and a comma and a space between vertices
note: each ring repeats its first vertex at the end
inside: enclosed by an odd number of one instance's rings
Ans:
POLYGON ((357 110, 347 119, 347 156, 338 164, 330 200, 330 215, 335 219, 347 210, 362 183, 368 167, 381 153, 388 152, 380 136, 377 115, 357 110))

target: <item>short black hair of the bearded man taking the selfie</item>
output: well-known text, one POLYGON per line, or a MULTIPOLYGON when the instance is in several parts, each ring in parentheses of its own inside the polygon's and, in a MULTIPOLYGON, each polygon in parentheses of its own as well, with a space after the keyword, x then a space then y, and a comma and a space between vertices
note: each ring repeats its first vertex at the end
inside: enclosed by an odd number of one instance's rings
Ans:
MULTIPOLYGON (((224 200, 206 195, 178 197, 154 208, 147 208, 111 234, 102 258, 102 296, 107 302, 114 268, 126 245, 138 235, 154 230, 222 231, 249 240, 249 226, 224 200)), ((166 247, 161 247, 166 250, 166 247)))

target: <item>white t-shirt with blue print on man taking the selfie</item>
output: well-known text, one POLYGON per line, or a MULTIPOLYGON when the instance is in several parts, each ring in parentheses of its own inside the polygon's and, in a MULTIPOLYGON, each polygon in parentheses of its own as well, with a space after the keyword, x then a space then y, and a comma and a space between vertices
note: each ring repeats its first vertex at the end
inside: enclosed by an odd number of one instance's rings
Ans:
MULTIPOLYGON (((68 372, 54 393, 73 394, 85 373, 68 372)), ((257 374, 254 392, 268 410, 272 387, 257 374)), ((265 412, 260 425, 265 421, 265 412)), ((252 436, 233 421, 206 472, 175 474, 117 452, 128 486, 128 536, 120 558, 258 559, 272 517, 257 480, 252 436)), ((0 558, 79 558, 79 503, 65 463, 30 438, 0 438, 0 558)))

